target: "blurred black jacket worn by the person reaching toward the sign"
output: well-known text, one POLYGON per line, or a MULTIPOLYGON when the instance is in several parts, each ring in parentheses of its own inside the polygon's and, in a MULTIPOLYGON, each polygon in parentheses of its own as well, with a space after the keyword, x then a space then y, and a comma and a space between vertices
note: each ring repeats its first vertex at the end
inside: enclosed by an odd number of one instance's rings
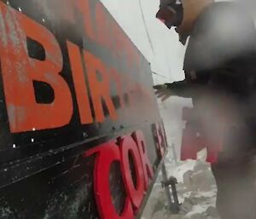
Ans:
MULTIPOLYGON (((220 151, 224 158, 248 152, 256 127, 253 19, 236 3, 212 3, 195 20, 183 69, 185 79, 167 85, 174 95, 192 98, 188 126, 204 139, 208 157, 220 151)), ((182 157, 194 158, 195 152, 185 144, 182 157)), ((215 162, 215 155, 209 160, 215 162)))

